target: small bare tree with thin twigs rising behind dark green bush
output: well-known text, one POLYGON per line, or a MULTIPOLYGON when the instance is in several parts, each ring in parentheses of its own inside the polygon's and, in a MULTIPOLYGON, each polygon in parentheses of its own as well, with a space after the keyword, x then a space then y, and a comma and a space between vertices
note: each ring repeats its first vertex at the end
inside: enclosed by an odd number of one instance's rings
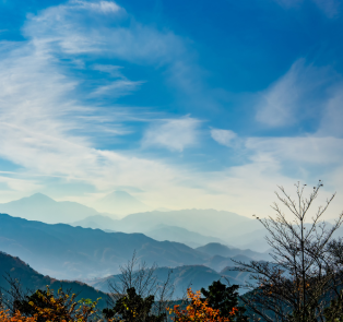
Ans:
POLYGON ((132 259, 126 265, 120 266, 117 281, 108 282, 110 295, 107 305, 114 307, 117 300, 127 295, 128 289, 134 287, 135 293, 142 298, 154 296, 153 313, 159 315, 166 312, 175 288, 172 283, 173 271, 168 270, 165 281, 159 281, 156 270, 156 264, 147 266, 145 262, 140 262, 134 251, 132 259))

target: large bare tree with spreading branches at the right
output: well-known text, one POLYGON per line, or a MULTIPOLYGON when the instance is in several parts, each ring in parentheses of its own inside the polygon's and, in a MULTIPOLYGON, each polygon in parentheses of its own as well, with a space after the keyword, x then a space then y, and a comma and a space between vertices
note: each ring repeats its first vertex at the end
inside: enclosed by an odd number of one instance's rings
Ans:
POLYGON ((295 200, 283 187, 275 192, 289 217, 277 203, 272 205, 275 216, 257 217, 269 234, 265 239, 272 248, 272 261, 236 262, 239 266, 234 269, 251 273, 245 285, 251 291, 243 300, 252 321, 324 321, 323 309, 332 297, 339 296, 343 285, 342 265, 330 243, 343 213, 333 225, 322 220, 335 194, 310 217, 309 210, 323 184, 319 181, 309 196, 304 195, 306 184, 295 186, 295 200))

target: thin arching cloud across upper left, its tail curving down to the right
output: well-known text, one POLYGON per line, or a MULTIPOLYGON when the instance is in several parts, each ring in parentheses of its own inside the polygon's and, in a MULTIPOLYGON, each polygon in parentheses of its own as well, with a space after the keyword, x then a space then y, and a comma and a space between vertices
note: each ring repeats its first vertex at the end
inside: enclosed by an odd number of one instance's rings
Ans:
POLYGON ((170 29, 144 25, 123 9, 107 16, 91 10, 90 4, 94 3, 70 1, 48 8, 31 17, 24 33, 43 50, 52 47, 63 55, 92 53, 135 64, 163 65, 166 82, 176 87, 184 105, 198 108, 218 105, 220 99, 203 82, 204 72, 197 64, 197 55, 187 39, 170 29))

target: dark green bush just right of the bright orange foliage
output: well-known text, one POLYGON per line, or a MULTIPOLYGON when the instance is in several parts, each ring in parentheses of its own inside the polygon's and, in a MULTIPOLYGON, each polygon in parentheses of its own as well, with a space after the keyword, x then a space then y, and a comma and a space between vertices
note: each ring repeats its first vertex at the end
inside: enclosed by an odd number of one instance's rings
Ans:
POLYGON ((229 317, 233 308, 237 308, 238 311, 233 321, 246 322, 248 321, 245 315, 246 309, 238 306, 238 285, 226 286, 221 281, 216 281, 209 286, 209 290, 201 288, 201 293, 212 309, 220 310, 221 317, 229 317))

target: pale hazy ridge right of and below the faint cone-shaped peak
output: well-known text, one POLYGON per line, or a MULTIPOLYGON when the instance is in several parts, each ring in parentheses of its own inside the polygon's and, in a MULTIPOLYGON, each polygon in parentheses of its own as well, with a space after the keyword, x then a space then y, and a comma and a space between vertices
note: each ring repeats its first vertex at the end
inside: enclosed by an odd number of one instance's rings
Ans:
POLYGON ((261 229, 259 222, 235 213, 215 210, 152 211, 130 214, 122 219, 91 216, 71 225, 142 232, 156 240, 173 240, 190 247, 221 242, 237 248, 252 248, 261 252, 269 248, 264 242, 264 235, 260 234, 260 231, 264 234, 265 230, 261 229), (256 231, 259 234, 256 235, 256 231), (246 237, 241 238, 241 236, 246 237))

